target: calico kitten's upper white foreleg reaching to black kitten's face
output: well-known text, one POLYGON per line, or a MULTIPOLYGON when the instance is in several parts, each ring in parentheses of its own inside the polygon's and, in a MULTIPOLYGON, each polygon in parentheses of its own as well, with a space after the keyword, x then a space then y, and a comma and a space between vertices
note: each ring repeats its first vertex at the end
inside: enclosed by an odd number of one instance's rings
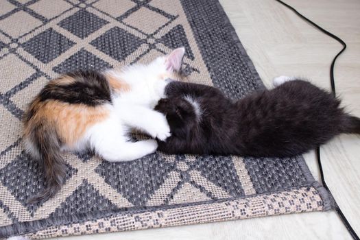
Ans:
POLYGON ((138 128, 147 132, 154 139, 165 141, 169 136, 170 127, 165 115, 143 106, 128 106, 120 112, 121 119, 131 128, 138 128))

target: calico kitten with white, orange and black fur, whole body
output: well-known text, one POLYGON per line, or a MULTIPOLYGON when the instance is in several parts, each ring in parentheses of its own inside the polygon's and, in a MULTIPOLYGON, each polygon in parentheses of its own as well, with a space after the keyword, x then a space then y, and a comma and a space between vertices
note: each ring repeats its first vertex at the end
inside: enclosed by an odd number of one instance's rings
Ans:
POLYGON ((155 152, 154 139, 130 141, 137 128, 159 141, 170 136, 165 116, 153 110, 169 77, 179 79, 184 48, 153 62, 119 71, 75 71, 51 80, 25 112, 27 152, 45 169, 46 189, 29 203, 48 200, 65 180, 63 150, 91 148, 110 162, 128 161, 155 152))

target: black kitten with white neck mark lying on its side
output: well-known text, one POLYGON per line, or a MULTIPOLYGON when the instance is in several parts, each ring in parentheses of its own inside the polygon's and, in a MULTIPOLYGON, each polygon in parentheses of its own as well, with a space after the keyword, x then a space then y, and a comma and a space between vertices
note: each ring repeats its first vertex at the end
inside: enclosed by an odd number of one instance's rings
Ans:
POLYGON ((276 88, 236 102, 211 86, 171 82, 167 99, 155 107, 171 129, 158 149, 284 157, 314 149, 337 134, 360 134, 360 119, 346 114, 333 95, 309 82, 288 80, 280 77, 276 88))

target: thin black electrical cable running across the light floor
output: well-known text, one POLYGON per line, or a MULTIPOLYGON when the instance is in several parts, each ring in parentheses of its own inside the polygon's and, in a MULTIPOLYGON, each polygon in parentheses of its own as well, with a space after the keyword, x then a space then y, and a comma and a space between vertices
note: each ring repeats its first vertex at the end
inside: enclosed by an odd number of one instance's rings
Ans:
MULTIPOLYGON (((313 25, 314 27, 316 27, 317 29, 319 29, 321 32, 323 32, 324 34, 331 36, 331 38, 334 38, 335 40, 337 40, 337 42, 341 43, 341 45, 343 46, 341 51, 339 51, 339 53, 337 53, 337 55, 335 56, 335 58, 333 59, 333 62, 331 62, 331 67, 330 67, 330 83, 331 83, 331 91, 334 95, 334 97, 336 96, 336 92, 335 92, 335 79, 334 79, 334 66, 335 66, 335 61, 337 60, 337 57, 340 56, 341 53, 343 53, 343 51, 345 51, 346 49, 346 43, 341 40, 341 38, 339 38, 338 36, 335 36, 334 34, 332 34, 331 32, 326 31, 324 28, 320 27, 319 25, 317 25, 316 23, 313 23, 313 21, 307 19, 307 17, 303 16, 302 14, 300 14, 295 8, 291 7, 291 5, 287 5, 287 3, 284 3, 283 1, 280 0, 275 0, 278 1, 279 3, 285 5, 285 7, 289 8, 290 10, 292 10, 293 12, 295 12, 298 16, 300 16, 300 18, 304 19, 304 21, 307 21, 307 23, 310 23, 311 25, 313 25)), ((320 170, 320 178, 322 181, 322 185, 324 186, 324 188, 331 194, 330 189, 328 189, 328 185, 325 182, 325 178, 324 178, 324 172, 322 171, 322 164, 321 164, 321 160, 320 160, 320 147, 316 148, 316 156, 317 156, 317 164, 319 165, 319 170, 320 170)), ((336 201, 334 200, 334 204, 335 204, 335 211, 337 212, 337 215, 339 215, 341 221, 344 223, 344 225, 346 226, 346 229, 348 229, 348 232, 350 233, 351 237, 355 240, 360 240, 359 237, 357 236, 357 233, 355 232, 355 230, 352 228, 352 226, 350 225, 350 223, 348 222, 348 219, 346 219, 344 213, 342 213, 341 209, 339 208, 339 205, 337 205, 336 201)))

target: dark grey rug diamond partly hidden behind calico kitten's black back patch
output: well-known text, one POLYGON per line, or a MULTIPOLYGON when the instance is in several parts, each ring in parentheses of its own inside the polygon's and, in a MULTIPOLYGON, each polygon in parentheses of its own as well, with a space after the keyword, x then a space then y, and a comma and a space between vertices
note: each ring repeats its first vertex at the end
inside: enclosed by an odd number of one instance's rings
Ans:
POLYGON ((66 73, 75 69, 104 70, 110 67, 111 65, 108 64, 108 62, 101 60, 85 49, 81 49, 67 60, 64 60, 64 62, 58 64, 58 66, 54 67, 53 71, 56 71, 56 73, 66 73))

